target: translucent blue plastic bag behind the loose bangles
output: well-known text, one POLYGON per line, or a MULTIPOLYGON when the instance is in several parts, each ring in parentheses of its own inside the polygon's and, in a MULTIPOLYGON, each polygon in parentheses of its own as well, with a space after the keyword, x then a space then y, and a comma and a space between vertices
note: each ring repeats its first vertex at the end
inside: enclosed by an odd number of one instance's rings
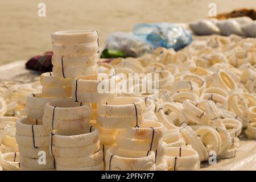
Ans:
POLYGON ((173 48, 175 51, 192 42, 191 31, 171 23, 140 23, 133 28, 133 34, 154 48, 173 48))

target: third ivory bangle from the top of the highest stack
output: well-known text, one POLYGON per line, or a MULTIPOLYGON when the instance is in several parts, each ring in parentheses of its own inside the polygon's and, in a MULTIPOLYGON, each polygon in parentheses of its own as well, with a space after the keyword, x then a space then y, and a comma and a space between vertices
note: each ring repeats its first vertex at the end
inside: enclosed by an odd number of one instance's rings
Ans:
POLYGON ((89 67, 98 63, 99 55, 77 55, 77 56, 61 56, 52 55, 52 65, 54 67, 89 67))

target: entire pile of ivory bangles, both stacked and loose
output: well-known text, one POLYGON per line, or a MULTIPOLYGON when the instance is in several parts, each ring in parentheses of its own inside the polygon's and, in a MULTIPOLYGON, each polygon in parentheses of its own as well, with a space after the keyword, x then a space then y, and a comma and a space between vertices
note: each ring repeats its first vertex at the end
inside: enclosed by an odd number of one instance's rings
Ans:
POLYGON ((178 52, 98 63, 97 31, 51 36, 42 91, 1 85, 3 170, 196 170, 235 158, 242 135, 256 138, 254 38, 213 35, 178 52), (140 89, 148 73, 159 76, 158 92, 116 92, 120 82, 140 89))

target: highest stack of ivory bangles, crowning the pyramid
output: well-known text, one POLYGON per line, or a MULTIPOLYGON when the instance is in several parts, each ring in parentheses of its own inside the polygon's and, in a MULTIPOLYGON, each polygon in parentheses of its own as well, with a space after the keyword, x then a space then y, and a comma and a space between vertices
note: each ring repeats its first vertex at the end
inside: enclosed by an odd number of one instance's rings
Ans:
POLYGON ((96 30, 53 32, 53 76, 84 78, 98 72, 98 33, 96 30))

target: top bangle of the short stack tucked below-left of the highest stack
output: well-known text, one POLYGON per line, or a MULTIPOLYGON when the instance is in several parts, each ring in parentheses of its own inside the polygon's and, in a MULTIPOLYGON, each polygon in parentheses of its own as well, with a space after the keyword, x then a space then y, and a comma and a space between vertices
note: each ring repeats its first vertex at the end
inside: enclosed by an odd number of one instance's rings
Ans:
POLYGON ((40 84, 44 87, 71 86, 71 78, 53 77, 52 72, 43 73, 40 76, 40 84))

